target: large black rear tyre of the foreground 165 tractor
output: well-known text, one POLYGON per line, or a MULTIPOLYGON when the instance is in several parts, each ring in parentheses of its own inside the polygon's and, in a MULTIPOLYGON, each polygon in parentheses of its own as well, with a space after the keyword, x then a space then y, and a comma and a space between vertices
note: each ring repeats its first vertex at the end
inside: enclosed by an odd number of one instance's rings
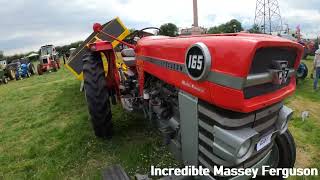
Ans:
POLYGON ((98 53, 83 58, 84 89, 92 126, 97 137, 111 138, 112 114, 102 59, 98 53))

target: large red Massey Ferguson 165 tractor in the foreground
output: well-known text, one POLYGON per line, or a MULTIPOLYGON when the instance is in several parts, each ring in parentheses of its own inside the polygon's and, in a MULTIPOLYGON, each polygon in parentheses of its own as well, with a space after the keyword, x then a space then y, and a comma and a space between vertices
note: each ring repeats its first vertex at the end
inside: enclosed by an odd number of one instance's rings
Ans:
POLYGON ((110 42, 87 45, 84 88, 96 136, 111 138, 110 101, 119 102, 155 123, 186 165, 294 166, 293 111, 284 100, 296 88, 300 44, 246 33, 136 39, 118 40, 126 71, 110 42))

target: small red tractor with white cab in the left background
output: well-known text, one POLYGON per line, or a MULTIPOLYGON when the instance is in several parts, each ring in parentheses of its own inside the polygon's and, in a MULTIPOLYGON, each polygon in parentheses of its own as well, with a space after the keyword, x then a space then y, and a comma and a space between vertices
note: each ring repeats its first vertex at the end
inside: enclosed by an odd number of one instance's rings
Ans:
POLYGON ((40 63, 37 66, 39 75, 47 71, 56 72, 60 69, 58 53, 53 45, 42 46, 40 49, 40 63))

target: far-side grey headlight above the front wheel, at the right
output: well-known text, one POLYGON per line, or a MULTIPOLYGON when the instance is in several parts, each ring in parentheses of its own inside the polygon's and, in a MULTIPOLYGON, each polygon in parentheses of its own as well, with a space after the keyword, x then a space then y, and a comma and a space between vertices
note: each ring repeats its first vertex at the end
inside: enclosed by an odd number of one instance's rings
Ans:
POLYGON ((288 128, 288 122, 292 118, 293 110, 288 108, 287 106, 283 106, 279 112, 279 118, 277 121, 277 129, 282 134, 288 128))

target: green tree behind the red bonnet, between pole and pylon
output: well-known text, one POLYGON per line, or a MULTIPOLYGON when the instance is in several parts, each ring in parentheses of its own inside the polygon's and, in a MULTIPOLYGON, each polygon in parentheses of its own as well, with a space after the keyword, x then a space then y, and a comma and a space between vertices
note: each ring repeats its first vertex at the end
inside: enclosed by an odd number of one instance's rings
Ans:
POLYGON ((225 24, 209 28, 208 34, 234 33, 240 31, 243 31, 241 22, 236 19, 232 19, 231 21, 226 22, 225 24))

